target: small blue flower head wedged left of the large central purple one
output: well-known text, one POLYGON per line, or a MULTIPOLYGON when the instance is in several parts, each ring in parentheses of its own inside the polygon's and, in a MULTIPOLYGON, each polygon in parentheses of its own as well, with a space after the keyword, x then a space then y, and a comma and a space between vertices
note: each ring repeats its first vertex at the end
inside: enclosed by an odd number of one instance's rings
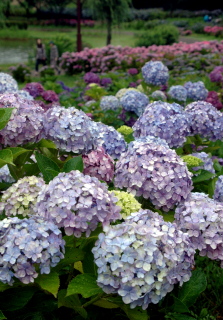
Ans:
POLYGON ((115 128, 101 122, 93 122, 92 132, 97 146, 103 147, 114 160, 119 159, 125 152, 127 148, 125 139, 115 128))

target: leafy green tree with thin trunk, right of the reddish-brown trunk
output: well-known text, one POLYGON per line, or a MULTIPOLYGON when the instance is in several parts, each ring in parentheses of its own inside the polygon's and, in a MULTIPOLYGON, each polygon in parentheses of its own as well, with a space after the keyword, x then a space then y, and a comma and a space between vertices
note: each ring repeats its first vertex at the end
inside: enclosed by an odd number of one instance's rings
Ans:
POLYGON ((107 41, 111 43, 112 25, 120 23, 128 16, 130 0, 89 0, 95 17, 106 21, 107 41))

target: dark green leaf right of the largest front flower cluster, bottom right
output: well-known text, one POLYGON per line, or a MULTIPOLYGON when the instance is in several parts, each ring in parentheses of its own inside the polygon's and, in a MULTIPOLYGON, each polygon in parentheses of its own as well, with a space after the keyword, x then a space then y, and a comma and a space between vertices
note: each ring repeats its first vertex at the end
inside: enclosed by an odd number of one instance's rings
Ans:
POLYGON ((192 306, 199 294, 207 287, 207 280, 205 274, 201 270, 192 272, 189 281, 185 282, 179 289, 178 299, 188 308, 192 306))

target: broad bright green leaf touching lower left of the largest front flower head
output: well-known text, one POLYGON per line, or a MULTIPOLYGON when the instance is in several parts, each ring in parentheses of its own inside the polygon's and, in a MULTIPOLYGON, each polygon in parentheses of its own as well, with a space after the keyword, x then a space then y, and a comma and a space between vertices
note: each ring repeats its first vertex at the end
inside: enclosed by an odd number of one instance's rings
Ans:
POLYGON ((80 293, 84 298, 103 293, 97 285, 97 277, 94 274, 84 273, 77 275, 68 285, 67 296, 80 293))

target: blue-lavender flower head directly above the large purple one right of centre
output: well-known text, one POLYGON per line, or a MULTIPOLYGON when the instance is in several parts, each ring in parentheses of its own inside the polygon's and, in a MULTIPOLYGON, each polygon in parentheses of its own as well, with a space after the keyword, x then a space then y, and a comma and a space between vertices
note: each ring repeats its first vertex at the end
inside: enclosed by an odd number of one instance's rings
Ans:
POLYGON ((154 135, 167 141, 170 147, 180 147, 190 134, 190 118, 176 103, 150 103, 133 126, 134 137, 154 135))

